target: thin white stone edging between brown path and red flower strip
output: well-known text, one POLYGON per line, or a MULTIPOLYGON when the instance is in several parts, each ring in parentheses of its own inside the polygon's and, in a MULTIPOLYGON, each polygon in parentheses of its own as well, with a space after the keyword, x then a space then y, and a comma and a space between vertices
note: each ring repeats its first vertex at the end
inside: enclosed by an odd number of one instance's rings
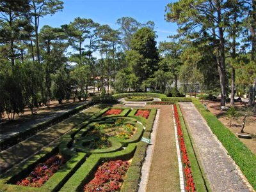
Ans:
POLYGON ((179 140, 178 140, 178 134, 177 134, 177 126, 176 126, 176 121, 174 117, 174 110, 172 106, 172 116, 173 116, 173 122, 174 122, 174 130, 175 130, 175 141, 176 141, 176 149, 177 149, 177 156, 178 156, 178 164, 179 164, 179 175, 180 175, 180 191, 185 192, 185 185, 184 185, 184 172, 182 168, 182 162, 181 162, 181 156, 180 156, 180 145, 179 145, 179 140))

